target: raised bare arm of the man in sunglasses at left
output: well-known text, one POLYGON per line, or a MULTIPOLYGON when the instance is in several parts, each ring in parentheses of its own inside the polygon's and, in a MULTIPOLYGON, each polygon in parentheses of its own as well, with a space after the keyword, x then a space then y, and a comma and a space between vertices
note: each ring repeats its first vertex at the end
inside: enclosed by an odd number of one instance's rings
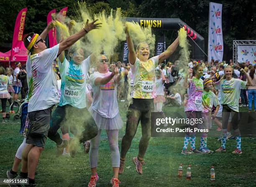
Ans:
POLYGON ((80 30, 79 32, 75 33, 74 35, 71 35, 67 37, 63 42, 59 44, 59 52, 60 54, 62 51, 73 45, 77 40, 79 40, 81 37, 83 37, 86 33, 90 32, 90 30, 97 29, 100 27, 101 23, 95 23, 97 20, 94 20, 89 23, 89 20, 87 20, 85 26, 80 30))

